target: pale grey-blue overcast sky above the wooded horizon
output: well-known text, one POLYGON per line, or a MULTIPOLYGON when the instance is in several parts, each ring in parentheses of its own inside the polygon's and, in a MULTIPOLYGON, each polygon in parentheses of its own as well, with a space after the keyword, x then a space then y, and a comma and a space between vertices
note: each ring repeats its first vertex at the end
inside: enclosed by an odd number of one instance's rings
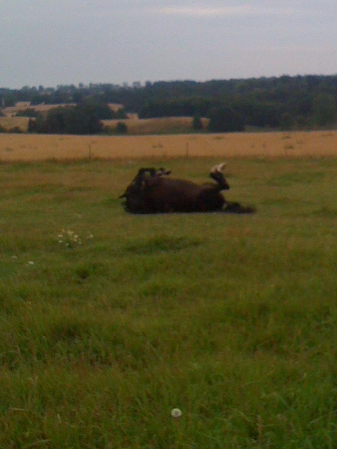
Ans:
POLYGON ((0 87, 336 73, 336 0, 0 0, 0 87))

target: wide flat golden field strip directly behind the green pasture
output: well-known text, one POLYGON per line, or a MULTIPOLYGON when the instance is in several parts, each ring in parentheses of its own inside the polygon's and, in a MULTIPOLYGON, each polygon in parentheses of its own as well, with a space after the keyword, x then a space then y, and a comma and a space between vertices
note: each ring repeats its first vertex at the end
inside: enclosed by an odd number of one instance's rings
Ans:
POLYGON ((80 158, 324 157, 337 155, 337 131, 69 136, 0 134, 0 161, 80 158))

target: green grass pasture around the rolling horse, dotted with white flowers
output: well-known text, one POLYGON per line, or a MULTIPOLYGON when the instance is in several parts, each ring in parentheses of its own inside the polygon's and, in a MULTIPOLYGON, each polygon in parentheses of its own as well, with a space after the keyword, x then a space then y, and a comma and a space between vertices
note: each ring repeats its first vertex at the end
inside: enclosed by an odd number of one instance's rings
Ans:
POLYGON ((229 160, 251 216, 117 199, 217 162, 0 165, 1 448, 337 447, 337 159, 229 160))

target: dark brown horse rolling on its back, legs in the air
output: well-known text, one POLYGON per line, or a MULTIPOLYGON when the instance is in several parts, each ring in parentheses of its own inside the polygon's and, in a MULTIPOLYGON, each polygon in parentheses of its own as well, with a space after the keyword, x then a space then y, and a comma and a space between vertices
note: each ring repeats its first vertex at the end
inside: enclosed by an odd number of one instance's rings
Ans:
POLYGON ((125 198, 125 210, 138 214, 168 212, 252 213, 253 207, 228 202, 220 193, 228 190, 222 170, 225 163, 215 165, 210 177, 216 182, 195 182, 170 177, 170 170, 141 168, 120 198, 125 198))

